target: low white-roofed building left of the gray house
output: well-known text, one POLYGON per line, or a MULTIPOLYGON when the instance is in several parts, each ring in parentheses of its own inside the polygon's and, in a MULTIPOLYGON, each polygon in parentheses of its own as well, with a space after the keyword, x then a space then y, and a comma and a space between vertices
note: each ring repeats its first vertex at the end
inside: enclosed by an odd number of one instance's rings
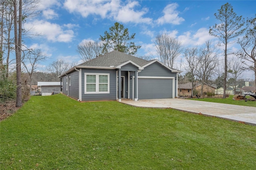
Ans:
POLYGON ((37 82, 37 85, 41 88, 42 96, 49 96, 52 93, 60 93, 60 82, 37 82))

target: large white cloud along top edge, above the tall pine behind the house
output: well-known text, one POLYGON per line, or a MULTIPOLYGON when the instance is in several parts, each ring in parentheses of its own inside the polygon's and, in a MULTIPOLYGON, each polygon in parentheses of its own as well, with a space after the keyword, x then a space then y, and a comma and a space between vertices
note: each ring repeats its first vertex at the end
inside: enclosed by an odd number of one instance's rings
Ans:
POLYGON ((140 6, 137 1, 73 1, 66 0, 64 7, 71 13, 78 13, 86 18, 89 15, 98 15, 101 18, 113 18, 116 21, 123 23, 152 23, 151 18, 143 16, 148 12, 147 8, 142 8, 140 11, 135 11, 134 8, 140 6))

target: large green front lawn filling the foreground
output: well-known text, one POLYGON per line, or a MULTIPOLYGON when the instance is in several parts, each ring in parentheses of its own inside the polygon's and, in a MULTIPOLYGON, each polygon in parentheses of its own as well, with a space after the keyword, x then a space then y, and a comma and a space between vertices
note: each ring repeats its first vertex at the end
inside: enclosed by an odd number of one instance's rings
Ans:
POLYGON ((0 122, 0 168, 254 169, 256 127, 173 109, 33 96, 0 122))

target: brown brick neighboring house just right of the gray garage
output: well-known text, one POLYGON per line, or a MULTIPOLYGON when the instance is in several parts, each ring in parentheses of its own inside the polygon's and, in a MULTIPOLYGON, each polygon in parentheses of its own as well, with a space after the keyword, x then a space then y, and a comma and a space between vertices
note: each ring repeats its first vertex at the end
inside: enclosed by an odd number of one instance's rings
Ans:
MULTIPOLYGON (((201 93, 201 88, 202 88, 202 83, 195 83, 194 90, 195 90, 196 93, 200 94, 201 93)), ((214 93, 215 89, 216 89, 215 87, 204 83, 203 94, 206 95, 207 92, 214 93)), ((186 84, 178 84, 178 94, 180 96, 191 95, 191 90, 192 90, 192 83, 191 82, 188 82, 186 84)))

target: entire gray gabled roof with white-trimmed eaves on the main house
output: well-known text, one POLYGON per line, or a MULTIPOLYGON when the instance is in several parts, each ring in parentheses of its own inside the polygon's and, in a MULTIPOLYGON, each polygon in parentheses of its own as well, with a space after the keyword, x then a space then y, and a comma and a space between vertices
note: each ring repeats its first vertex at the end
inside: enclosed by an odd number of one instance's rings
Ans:
POLYGON ((59 77, 64 76, 65 74, 68 74, 78 68, 116 69, 128 63, 137 66, 138 70, 143 70, 146 66, 149 66, 150 64, 153 64, 155 62, 162 64, 164 67, 171 70, 172 72, 182 72, 180 70, 170 68, 156 59, 147 61, 138 57, 134 57, 132 55, 128 55, 126 53, 122 53, 120 51, 111 51, 110 53, 106 53, 105 55, 96 57, 92 60, 74 66, 64 74, 61 74, 59 77))

